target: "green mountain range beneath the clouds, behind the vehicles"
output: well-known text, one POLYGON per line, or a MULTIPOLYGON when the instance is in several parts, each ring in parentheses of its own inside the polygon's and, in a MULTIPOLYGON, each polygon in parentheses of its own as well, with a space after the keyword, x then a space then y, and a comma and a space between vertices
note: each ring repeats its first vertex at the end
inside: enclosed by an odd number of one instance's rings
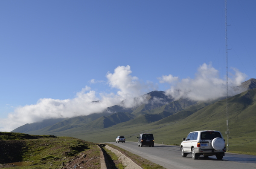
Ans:
MULTIPOLYGON (((250 79, 236 89, 241 92, 228 98, 230 146, 234 151, 254 151, 256 79, 250 79), (234 143, 243 144, 241 149, 234 143)), ((196 130, 219 130, 225 136, 227 126, 226 99, 194 101, 186 98, 174 100, 163 91, 143 95, 146 102, 125 108, 126 100, 104 112, 72 118, 48 119, 25 124, 12 132, 31 135, 71 136, 92 142, 114 141, 124 135, 126 141, 136 141, 142 132, 151 132, 156 143, 179 144, 182 137, 196 130)), ((138 98, 132 98, 135 101, 138 98)))

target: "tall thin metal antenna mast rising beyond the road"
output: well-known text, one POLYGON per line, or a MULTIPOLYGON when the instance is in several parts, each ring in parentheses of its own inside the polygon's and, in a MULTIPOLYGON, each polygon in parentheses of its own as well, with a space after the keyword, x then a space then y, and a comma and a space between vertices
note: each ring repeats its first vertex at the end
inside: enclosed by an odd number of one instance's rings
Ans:
MULTIPOLYGON (((227 0, 225 0, 225 35, 226 35, 226 87, 227 87, 227 97, 228 97, 228 69, 227 69, 227 0)), ((226 97, 226 100, 227 100, 227 97, 226 97)), ((227 106, 227 110, 228 110, 228 106, 227 106)), ((229 128, 228 128, 228 112, 227 112, 227 131, 226 131, 226 134, 227 134, 227 151, 229 150, 228 147, 228 135, 230 134, 229 132, 229 128)))

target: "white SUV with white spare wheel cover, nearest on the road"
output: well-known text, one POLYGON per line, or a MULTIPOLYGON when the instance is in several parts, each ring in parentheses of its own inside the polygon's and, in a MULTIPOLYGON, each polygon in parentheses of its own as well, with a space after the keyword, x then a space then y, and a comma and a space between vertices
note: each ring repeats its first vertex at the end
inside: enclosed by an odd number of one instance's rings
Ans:
POLYGON ((196 160, 200 155, 208 157, 216 155, 221 160, 226 152, 225 140, 219 131, 196 131, 190 132, 180 144, 182 157, 192 154, 192 159, 196 160))

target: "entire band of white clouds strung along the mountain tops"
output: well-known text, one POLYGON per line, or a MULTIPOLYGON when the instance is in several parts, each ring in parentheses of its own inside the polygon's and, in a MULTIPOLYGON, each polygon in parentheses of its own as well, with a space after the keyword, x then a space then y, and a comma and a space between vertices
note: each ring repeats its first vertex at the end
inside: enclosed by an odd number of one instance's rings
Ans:
MULTIPOLYGON (((246 75, 233 69, 229 79, 230 86, 239 86, 246 75)), ((147 92, 157 89, 157 84, 147 81, 143 82, 138 77, 131 75, 130 66, 118 66, 113 73, 106 74, 107 84, 116 90, 116 93, 97 93, 89 86, 85 86, 72 99, 58 100, 51 98, 39 99, 36 104, 18 107, 9 113, 6 119, 0 119, 0 131, 10 132, 26 123, 34 123, 49 118, 75 117, 102 112, 105 108, 113 105, 125 108, 138 106, 145 103, 147 99, 139 97, 147 92), (133 97, 137 97, 133 99, 133 97), (93 102, 100 100, 99 102, 93 102), (125 100, 125 102, 121 102, 125 100)), ((176 100, 183 97, 191 100, 212 100, 226 95, 226 80, 218 77, 219 72, 211 64, 204 63, 198 68, 194 79, 179 79, 172 74, 157 77, 160 83, 169 83, 170 88, 166 90, 176 100)), ((103 80, 90 80, 89 83, 103 83, 103 80)), ((230 95, 235 95, 229 88, 230 95)))

